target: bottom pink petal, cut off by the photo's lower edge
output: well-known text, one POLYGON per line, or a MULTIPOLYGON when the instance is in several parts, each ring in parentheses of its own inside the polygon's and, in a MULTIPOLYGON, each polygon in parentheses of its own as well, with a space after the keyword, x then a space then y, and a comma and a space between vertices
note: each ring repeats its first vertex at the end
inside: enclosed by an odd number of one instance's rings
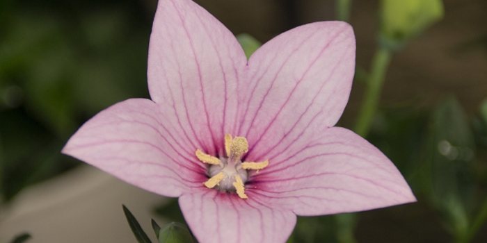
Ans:
POLYGON ((291 210, 216 190, 184 194, 179 206, 201 243, 286 242, 296 225, 291 210))

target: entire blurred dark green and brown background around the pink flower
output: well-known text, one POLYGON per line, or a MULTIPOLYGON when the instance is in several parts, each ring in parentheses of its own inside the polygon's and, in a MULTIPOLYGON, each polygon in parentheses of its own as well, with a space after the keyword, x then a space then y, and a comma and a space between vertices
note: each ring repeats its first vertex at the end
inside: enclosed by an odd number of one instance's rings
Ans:
MULTIPOLYGON (((196 2, 254 44, 323 20, 355 30, 356 78, 337 126, 378 146, 418 202, 300 217, 289 242, 487 242, 487 1, 196 2)), ((175 199, 60 153, 100 110, 149 98, 156 6, 0 0, 0 242, 136 242, 122 203, 151 237, 151 217, 184 222, 175 199)))

